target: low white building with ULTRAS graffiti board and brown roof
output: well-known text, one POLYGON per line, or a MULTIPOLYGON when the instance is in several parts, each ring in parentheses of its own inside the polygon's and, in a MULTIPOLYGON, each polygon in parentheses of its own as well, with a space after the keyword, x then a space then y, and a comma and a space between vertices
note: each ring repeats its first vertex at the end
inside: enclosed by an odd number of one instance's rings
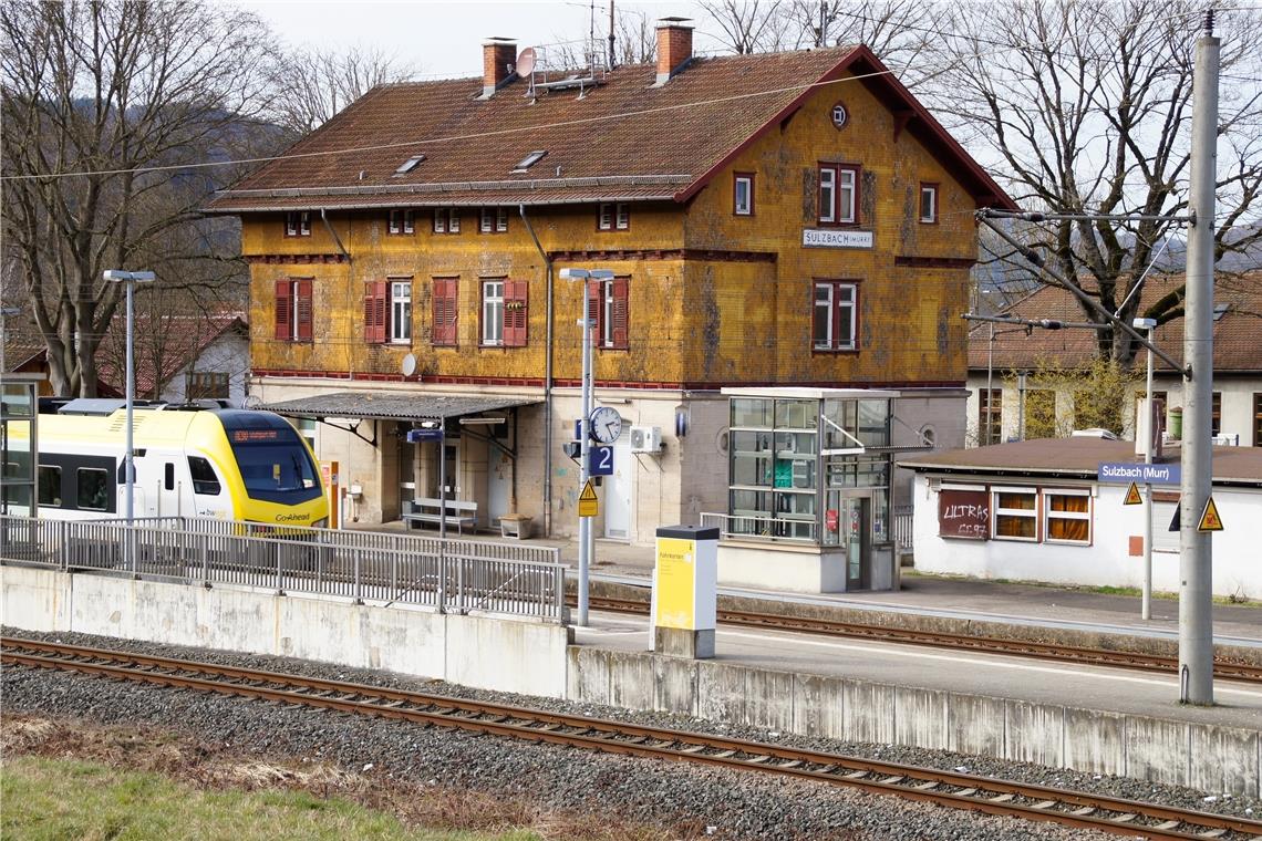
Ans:
MULTIPOLYGON (((1262 599, 1262 448, 1215 446, 1214 595, 1262 599)), ((1037 439, 900 461, 915 472, 912 546, 925 572, 1085 586, 1143 585, 1142 504, 1124 504, 1135 445, 1037 439)), ((1152 586, 1179 590, 1179 451, 1152 484, 1152 586)), ((1145 492, 1142 479, 1138 483, 1145 492)), ((1196 512, 1200 516, 1201 512, 1196 512)))

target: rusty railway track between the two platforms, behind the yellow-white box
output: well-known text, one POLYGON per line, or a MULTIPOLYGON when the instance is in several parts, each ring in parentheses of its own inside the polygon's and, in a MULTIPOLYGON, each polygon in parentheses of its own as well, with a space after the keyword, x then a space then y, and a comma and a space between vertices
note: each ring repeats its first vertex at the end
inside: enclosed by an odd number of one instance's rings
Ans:
MULTIPOLYGON (((592 596, 589 605, 593 610, 608 610, 612 613, 632 613, 640 615, 646 615, 649 613, 649 604, 635 599, 592 596)), ((1165 672, 1169 675, 1176 675, 1179 672, 1179 658, 1165 657, 1162 654, 1142 654, 1136 652, 1108 651, 1106 648, 1059 646, 1055 643, 1037 643, 1023 639, 1000 639, 997 637, 973 637, 968 634, 952 634, 936 630, 870 625, 858 622, 840 622, 837 619, 784 617, 770 613, 755 613, 750 610, 728 610, 723 608, 718 609, 717 618, 723 624, 741 625, 745 628, 798 630, 824 637, 876 639, 880 642, 905 643, 910 646, 931 646, 934 648, 954 648, 993 654, 1015 654, 1018 657, 1032 657, 1037 659, 1059 659, 1074 663, 1089 663, 1093 666, 1116 666, 1118 668, 1133 668, 1145 672, 1165 672)), ((1244 681, 1248 683, 1262 683, 1262 667, 1217 659, 1214 661, 1214 677, 1222 680, 1244 681)))

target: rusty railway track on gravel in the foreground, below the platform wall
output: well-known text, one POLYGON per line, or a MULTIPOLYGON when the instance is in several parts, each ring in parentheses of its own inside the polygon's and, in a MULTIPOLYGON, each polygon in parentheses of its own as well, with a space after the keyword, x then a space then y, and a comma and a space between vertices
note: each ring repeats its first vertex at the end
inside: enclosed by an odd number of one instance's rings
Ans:
POLYGON ((708 734, 59 643, 4 638, 0 648, 0 661, 8 666, 66 670, 533 743, 780 774, 1129 837, 1262 837, 1262 822, 1238 817, 708 734))

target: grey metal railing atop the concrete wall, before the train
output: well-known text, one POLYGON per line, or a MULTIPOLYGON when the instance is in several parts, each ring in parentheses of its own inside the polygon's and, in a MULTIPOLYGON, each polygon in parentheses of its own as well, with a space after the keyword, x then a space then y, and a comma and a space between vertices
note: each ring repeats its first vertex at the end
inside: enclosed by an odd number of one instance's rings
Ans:
POLYGON ((560 550, 194 517, 0 516, 0 561, 567 622, 560 550))

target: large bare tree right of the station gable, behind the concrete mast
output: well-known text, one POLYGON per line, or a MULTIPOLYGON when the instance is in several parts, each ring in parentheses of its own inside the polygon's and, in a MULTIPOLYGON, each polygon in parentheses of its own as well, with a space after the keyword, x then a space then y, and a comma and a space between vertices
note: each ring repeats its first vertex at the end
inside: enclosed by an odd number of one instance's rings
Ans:
MULTIPOLYGON (((1109 311, 1121 306, 1126 322, 1141 314, 1140 296, 1129 294, 1143 269, 1179 233, 1169 217, 1188 211, 1194 43, 1204 8, 1165 0, 1013 0, 969 6, 955 20, 957 35, 943 40, 954 62, 933 83, 938 110, 950 115, 965 141, 1002 161, 994 171, 1018 203, 1031 211, 1132 217, 1058 221, 1018 232, 1059 276, 1109 311)), ((1253 43, 1262 16, 1246 9, 1219 20, 1227 28, 1218 159, 1222 257, 1262 238, 1257 227, 1235 226, 1257 212, 1262 188, 1262 57, 1253 43)), ((1177 293, 1142 315, 1166 322, 1181 311, 1177 293)), ((1129 364, 1131 338, 1114 333, 1094 309, 1083 313, 1100 325, 1100 358, 1129 364)))

